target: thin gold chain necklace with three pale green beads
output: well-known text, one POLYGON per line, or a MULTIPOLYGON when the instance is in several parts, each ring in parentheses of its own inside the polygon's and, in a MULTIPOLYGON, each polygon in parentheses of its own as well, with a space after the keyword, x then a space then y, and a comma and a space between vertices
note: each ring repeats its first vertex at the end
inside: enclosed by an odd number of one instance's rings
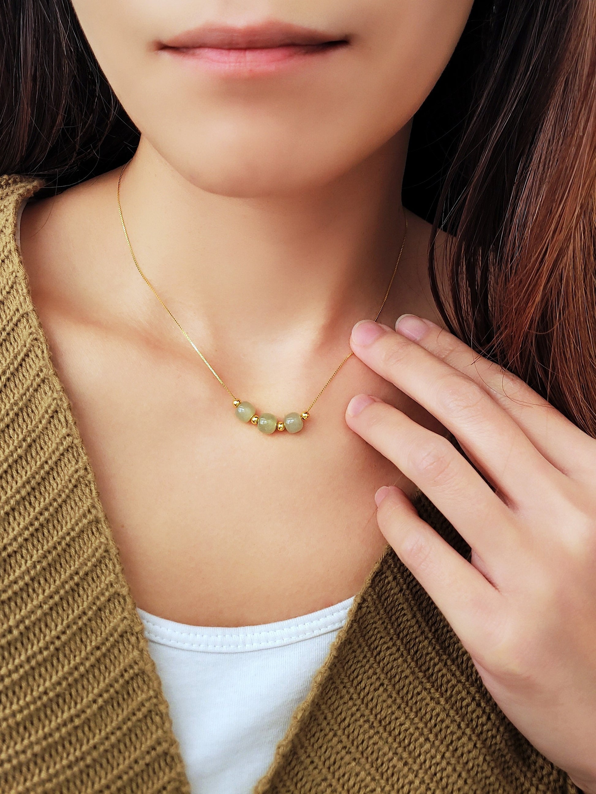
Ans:
MULTIPOLYGON (((130 160, 129 160, 129 163, 130 163, 130 160)), ((343 364, 345 364, 346 361, 350 358, 350 356, 354 355, 354 353, 349 353, 344 358, 344 360, 342 361, 341 364, 339 364, 339 367, 335 370, 335 372, 333 373, 331 378, 329 380, 327 380, 327 383, 323 386, 321 391, 319 391, 319 394, 316 395, 315 399, 313 399, 312 403, 308 406, 308 408, 306 410, 303 410, 300 414, 297 411, 291 411, 289 414, 285 415, 284 419, 278 420, 275 416, 273 416, 273 414, 269 414, 269 413, 257 414, 257 411, 255 410, 255 407, 253 406, 252 403, 248 403, 248 402, 246 402, 246 400, 240 400, 240 399, 238 399, 238 397, 233 395, 232 392, 230 391, 230 389, 226 386, 226 384, 224 384, 223 380, 219 377, 217 372, 215 372, 215 369, 211 366, 211 364, 209 364, 207 359, 203 356, 203 353, 200 352, 199 348, 192 341, 191 337, 188 336, 188 333, 180 325, 180 322, 178 322, 176 320, 176 318, 174 317, 172 312, 168 309, 168 306, 166 306, 165 303, 161 300, 160 296, 157 295, 157 291, 156 291, 155 287, 153 287, 153 284, 149 281, 147 276, 145 276, 145 273, 142 272, 141 267, 139 266, 139 264, 137 262, 137 257, 134 256, 133 246, 130 245, 130 239, 129 239, 129 236, 128 236, 128 232, 126 231, 126 225, 124 223, 124 216, 122 215, 122 206, 120 206, 120 183, 122 182, 122 174, 125 172, 126 166, 129 163, 124 164, 124 166, 122 167, 122 171, 120 172, 120 176, 118 177, 118 188, 117 188, 117 191, 116 191, 116 196, 118 198, 118 212, 120 214, 120 221, 122 222, 122 231, 124 232, 124 236, 126 237, 126 243, 128 244, 128 247, 129 247, 129 250, 130 250, 130 256, 133 257, 134 264, 137 265, 137 270, 138 270, 139 273, 141 273, 141 276, 143 277, 143 279, 145 279, 145 283, 149 287, 151 287, 151 289, 153 291, 153 294, 156 296, 157 300, 161 303, 161 305, 164 307, 164 309, 168 312, 168 314, 170 315, 172 320, 176 323, 176 326, 178 326, 178 328, 180 328, 182 333, 184 333, 184 336, 191 343, 192 349, 195 350, 195 353, 199 354, 201 359, 205 362, 205 364, 207 364, 207 367, 215 375, 217 380, 219 380, 219 383, 222 384, 224 389, 227 391, 227 393, 230 395, 230 397, 234 400, 235 414, 241 420, 241 422, 246 422, 246 423, 250 422, 251 424, 257 426, 258 429, 261 430, 261 432, 265 433, 265 434, 273 433, 275 430, 288 430, 289 433, 293 434, 293 433, 297 433, 299 430, 302 430, 302 428, 304 426, 304 422, 306 422, 306 420, 310 416, 310 411, 311 411, 313 405, 316 403, 316 401, 319 399, 319 397, 323 394, 323 391, 325 391, 327 386, 329 384, 331 384, 331 380, 333 380, 335 378, 335 376, 337 375, 339 370, 343 367, 343 364)), ((397 262, 395 263, 395 268, 393 268, 393 275, 391 276, 391 279, 389 281, 389 287, 387 287, 387 291, 385 292, 385 297, 383 298, 383 303, 381 303, 381 308, 377 311, 377 316, 374 318, 373 322, 377 322, 377 319, 379 318, 379 314, 381 314, 383 306, 385 306, 385 301, 387 300, 387 297, 389 295, 389 290, 391 289, 391 285, 393 284, 393 279, 395 278, 395 274, 397 273, 397 266, 400 264, 401 254, 404 251, 405 236, 406 236, 406 233, 408 232, 408 218, 406 218, 405 213, 404 213, 404 220, 405 220, 404 239, 401 241, 401 249, 400 249, 399 255, 397 256, 397 262)))

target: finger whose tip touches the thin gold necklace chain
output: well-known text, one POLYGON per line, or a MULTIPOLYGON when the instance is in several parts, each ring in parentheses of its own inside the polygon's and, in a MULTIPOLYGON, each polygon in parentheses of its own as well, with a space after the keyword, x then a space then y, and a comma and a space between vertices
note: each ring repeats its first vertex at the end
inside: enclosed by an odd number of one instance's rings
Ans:
POLYGON ((527 503, 528 494, 544 490, 555 472, 562 476, 484 389, 424 347, 370 322, 354 326, 350 343, 365 364, 451 430, 509 502, 527 503), (366 344, 362 338, 369 329, 377 337, 366 344))

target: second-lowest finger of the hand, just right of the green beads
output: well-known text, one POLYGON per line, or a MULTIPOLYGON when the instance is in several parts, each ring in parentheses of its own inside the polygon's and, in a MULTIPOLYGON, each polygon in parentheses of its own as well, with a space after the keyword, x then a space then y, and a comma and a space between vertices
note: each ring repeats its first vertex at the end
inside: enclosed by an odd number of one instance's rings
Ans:
POLYGON ((509 508, 447 438, 370 395, 350 400, 346 422, 428 496, 498 576, 519 545, 516 525, 509 508))

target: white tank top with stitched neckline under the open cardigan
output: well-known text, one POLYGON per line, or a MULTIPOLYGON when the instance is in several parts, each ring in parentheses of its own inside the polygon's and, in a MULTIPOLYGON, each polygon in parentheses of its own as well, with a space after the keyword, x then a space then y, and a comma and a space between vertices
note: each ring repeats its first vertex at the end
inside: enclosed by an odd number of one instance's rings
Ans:
POLYGON ((354 598, 263 626, 187 626, 137 607, 192 794, 250 794, 354 598))

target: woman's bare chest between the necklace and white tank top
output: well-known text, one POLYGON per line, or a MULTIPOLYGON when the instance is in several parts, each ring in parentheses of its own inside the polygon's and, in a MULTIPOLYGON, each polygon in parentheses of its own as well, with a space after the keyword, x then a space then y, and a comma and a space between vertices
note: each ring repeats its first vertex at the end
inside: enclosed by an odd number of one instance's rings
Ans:
POLYGON ((235 418, 192 350, 40 312, 141 608, 242 626, 358 592, 385 548, 374 491, 412 486, 346 426, 346 405, 370 391, 421 409, 354 357, 300 434, 267 436, 235 418))

